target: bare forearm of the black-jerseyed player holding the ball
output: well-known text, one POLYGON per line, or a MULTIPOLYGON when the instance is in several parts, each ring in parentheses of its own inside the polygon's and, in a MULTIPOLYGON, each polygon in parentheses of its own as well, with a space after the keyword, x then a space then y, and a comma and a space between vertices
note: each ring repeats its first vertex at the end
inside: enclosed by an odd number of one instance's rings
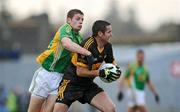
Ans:
POLYGON ((77 67, 76 73, 80 77, 96 77, 99 76, 99 70, 88 70, 87 68, 77 67))

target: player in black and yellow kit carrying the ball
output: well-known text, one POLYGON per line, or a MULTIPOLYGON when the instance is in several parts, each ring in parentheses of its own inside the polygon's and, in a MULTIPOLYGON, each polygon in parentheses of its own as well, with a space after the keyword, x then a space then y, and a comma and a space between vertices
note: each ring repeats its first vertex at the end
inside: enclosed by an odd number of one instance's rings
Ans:
POLYGON ((114 103, 108 94, 93 82, 93 79, 99 76, 99 67, 103 62, 115 64, 112 45, 109 43, 112 28, 110 23, 98 20, 94 23, 92 31, 92 37, 81 43, 81 46, 88 49, 94 57, 92 70, 88 69, 84 55, 77 53, 73 55, 60 83, 54 112, 58 110, 67 112, 75 101, 89 103, 103 112, 115 112, 114 103))

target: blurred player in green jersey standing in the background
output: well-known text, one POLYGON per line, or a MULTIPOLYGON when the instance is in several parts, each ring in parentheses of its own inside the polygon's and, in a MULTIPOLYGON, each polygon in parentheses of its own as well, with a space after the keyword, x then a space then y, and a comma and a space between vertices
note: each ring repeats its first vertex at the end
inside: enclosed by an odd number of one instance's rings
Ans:
MULTIPOLYGON (((140 111, 147 112, 145 103, 145 87, 149 89, 155 96, 155 101, 159 103, 159 96, 152 84, 147 67, 144 64, 144 51, 138 50, 136 53, 136 62, 129 64, 122 82, 127 83, 126 96, 128 112, 140 111)), ((122 92, 119 92, 118 98, 122 99, 122 92)))

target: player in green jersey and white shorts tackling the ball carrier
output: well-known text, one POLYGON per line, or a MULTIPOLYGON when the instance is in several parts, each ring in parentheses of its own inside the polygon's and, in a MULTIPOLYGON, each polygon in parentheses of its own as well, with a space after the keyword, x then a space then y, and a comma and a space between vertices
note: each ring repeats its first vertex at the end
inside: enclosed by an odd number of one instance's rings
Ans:
POLYGON ((91 57, 91 52, 79 45, 83 19, 84 14, 80 10, 70 10, 67 22, 58 29, 47 49, 37 57, 41 67, 35 72, 29 88, 31 99, 28 112, 52 112, 59 83, 73 52, 91 57))

